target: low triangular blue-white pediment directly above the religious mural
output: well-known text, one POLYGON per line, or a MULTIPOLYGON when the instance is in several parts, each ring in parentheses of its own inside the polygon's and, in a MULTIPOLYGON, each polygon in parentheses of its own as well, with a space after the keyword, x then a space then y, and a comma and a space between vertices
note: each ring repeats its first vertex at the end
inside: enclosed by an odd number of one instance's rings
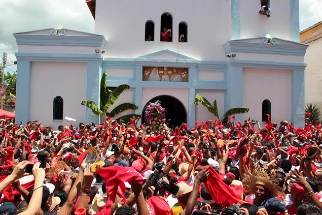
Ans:
POLYGON ((139 56, 136 59, 171 59, 171 60, 176 59, 176 60, 183 60, 183 61, 196 60, 192 57, 189 57, 189 56, 186 56, 186 55, 183 55, 183 54, 180 54, 180 53, 168 50, 168 49, 165 49, 162 51, 157 51, 157 52, 150 53, 150 54, 146 54, 143 56, 139 56))

